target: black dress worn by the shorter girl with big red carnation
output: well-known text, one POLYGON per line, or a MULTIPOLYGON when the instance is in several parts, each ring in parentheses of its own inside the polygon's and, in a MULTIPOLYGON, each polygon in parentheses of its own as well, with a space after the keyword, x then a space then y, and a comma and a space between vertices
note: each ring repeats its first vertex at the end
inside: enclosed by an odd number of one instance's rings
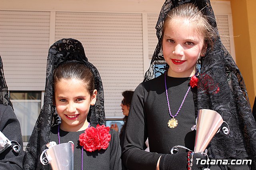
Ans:
MULTIPOLYGON (((74 170, 81 169, 81 152, 82 147, 79 144, 79 135, 84 130, 78 132, 66 132, 60 129, 60 143, 68 141, 74 142, 74 170)), ((83 153, 83 169, 84 170, 121 170, 121 148, 118 132, 110 129, 111 140, 106 150, 96 150, 83 153)), ((58 144, 58 126, 54 126, 51 130, 50 141, 58 144)), ((48 169, 50 169, 50 166, 48 169)), ((47 168, 46 168, 47 169, 47 168)))

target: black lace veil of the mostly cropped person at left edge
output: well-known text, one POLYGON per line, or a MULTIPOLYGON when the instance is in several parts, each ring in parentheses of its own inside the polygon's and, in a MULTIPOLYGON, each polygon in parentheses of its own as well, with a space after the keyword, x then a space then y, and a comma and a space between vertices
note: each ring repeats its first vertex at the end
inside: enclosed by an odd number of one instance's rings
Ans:
POLYGON ((1 93, 0 93, 0 104, 2 105, 10 105, 12 107, 12 103, 9 99, 9 94, 8 94, 8 87, 6 85, 6 81, 4 78, 4 68, 3 68, 3 61, 0 56, 0 87, 1 87, 1 93))

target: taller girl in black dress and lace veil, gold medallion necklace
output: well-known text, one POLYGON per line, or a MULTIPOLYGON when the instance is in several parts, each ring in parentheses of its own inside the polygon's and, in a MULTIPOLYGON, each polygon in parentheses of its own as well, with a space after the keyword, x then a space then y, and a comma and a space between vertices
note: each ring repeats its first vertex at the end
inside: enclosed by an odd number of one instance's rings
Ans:
MULTIPOLYGON (((256 168, 256 124, 239 69, 220 41, 209 0, 166 0, 156 25, 158 45, 144 82, 134 91, 122 161, 130 170, 202 169, 194 150, 197 111, 217 111, 230 127, 208 146, 210 159, 250 159, 252 165, 209 165, 211 170, 256 168), (191 3, 189 3, 191 2, 191 3), (156 64, 166 61, 159 77, 156 64), (197 78, 198 77, 198 81, 197 78), (193 78, 190 78, 193 77, 193 78), (196 86, 197 85, 197 86, 196 86), (148 137, 150 152, 143 145, 148 137), (192 157, 193 155, 193 157, 192 157), (194 162, 193 162, 194 160, 194 162)), ((206 165, 207 167, 207 165, 206 165)))

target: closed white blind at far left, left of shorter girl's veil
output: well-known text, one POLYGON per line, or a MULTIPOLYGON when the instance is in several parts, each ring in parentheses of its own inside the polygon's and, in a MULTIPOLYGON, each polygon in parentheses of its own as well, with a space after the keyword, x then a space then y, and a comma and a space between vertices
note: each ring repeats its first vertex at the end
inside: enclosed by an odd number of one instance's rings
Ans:
POLYGON ((0 55, 9 90, 44 90, 50 12, 0 11, 0 55))

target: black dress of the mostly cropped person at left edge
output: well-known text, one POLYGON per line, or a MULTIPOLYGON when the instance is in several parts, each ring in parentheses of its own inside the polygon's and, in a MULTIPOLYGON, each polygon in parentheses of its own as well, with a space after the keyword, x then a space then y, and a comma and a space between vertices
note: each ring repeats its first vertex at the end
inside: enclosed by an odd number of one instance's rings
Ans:
MULTIPOLYGON (((0 105, 0 131, 9 139, 20 144, 20 152, 16 153, 9 146, 0 154, 0 170, 20 170, 24 157, 20 123, 9 105, 0 105)), ((14 144, 12 144, 13 146, 14 144)))

